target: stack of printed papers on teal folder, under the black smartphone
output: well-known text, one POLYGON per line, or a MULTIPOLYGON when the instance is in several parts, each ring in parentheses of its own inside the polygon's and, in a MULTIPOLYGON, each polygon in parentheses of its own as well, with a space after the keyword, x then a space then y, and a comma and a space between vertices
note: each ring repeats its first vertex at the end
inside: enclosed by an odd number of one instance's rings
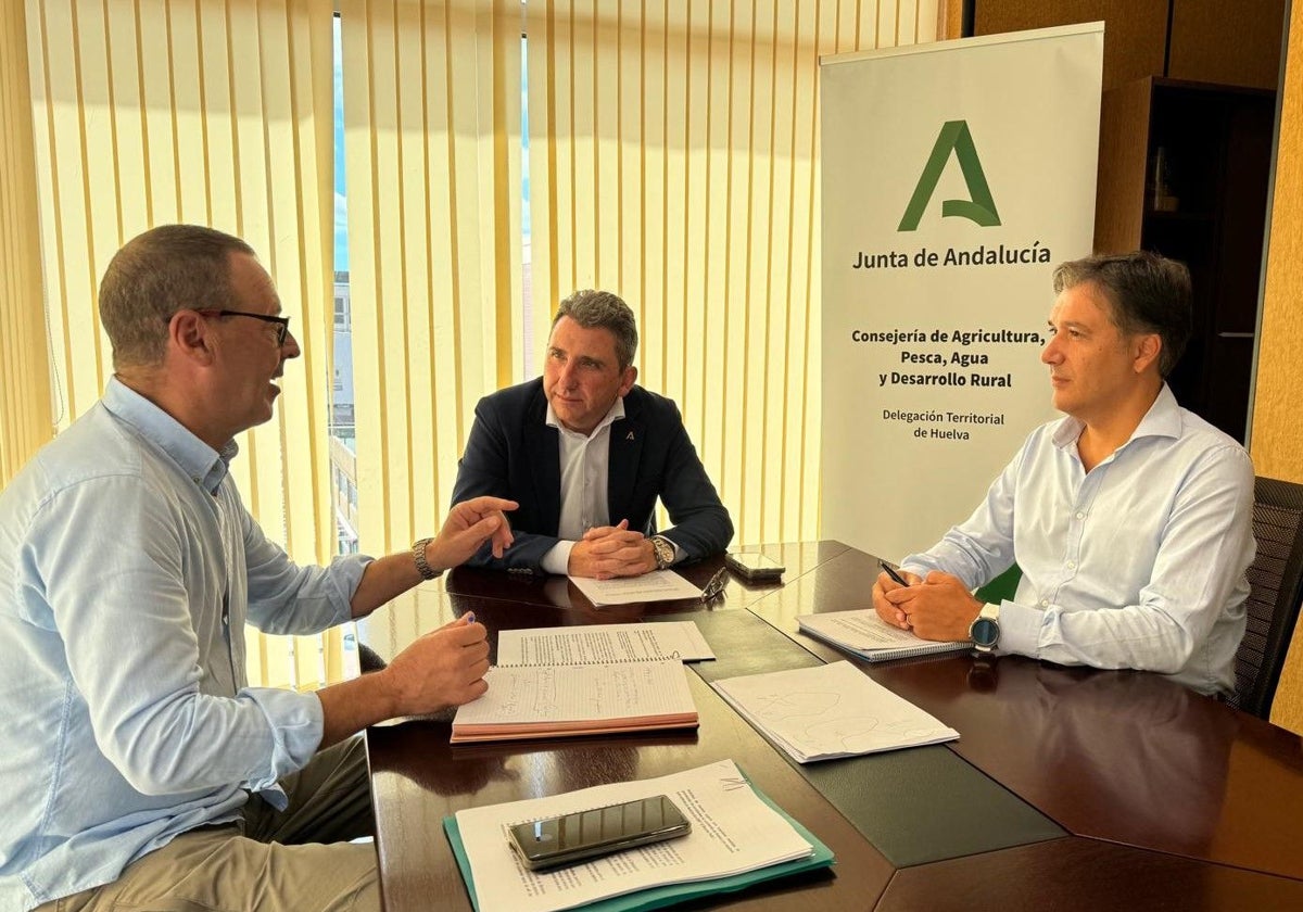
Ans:
POLYGON ((655 908, 833 862, 827 847, 756 792, 731 760, 659 779, 459 810, 444 829, 477 909, 550 912, 627 894, 633 908, 655 908), (507 842, 516 823, 653 795, 668 795, 692 821, 692 833, 554 872, 526 869, 507 842))

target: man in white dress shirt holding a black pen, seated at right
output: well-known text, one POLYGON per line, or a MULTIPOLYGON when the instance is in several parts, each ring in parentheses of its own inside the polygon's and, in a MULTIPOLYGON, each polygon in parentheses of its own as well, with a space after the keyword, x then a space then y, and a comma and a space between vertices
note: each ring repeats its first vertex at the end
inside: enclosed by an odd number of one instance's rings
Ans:
POLYGON ((1049 365, 1066 418, 1032 431, 986 499, 886 573, 873 605, 925 640, 1139 668, 1230 694, 1253 559, 1253 466, 1165 379, 1191 332, 1190 274, 1149 253, 1054 272, 1049 365), (972 589, 1016 563, 1012 599, 972 589))

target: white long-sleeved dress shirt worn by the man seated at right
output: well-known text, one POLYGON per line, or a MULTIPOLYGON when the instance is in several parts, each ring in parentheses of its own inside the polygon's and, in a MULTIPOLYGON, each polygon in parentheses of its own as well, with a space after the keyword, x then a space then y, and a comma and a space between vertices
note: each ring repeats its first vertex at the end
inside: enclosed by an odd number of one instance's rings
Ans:
POLYGON ((1068 417, 1032 431, 973 515, 902 567, 976 588, 1016 560, 1001 651, 1233 693, 1255 549, 1248 453, 1166 386, 1089 473, 1081 430, 1068 417))

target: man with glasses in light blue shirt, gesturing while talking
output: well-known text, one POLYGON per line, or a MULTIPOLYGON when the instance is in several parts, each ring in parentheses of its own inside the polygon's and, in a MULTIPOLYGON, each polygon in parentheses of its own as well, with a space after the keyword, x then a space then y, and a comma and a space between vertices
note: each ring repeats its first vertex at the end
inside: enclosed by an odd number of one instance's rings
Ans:
POLYGON ((99 311, 103 399, 0 491, 0 908, 379 909, 366 760, 383 719, 486 689, 463 618, 383 671, 250 688, 245 623, 361 618, 481 545, 504 509, 456 504, 409 551, 298 567, 229 478, 300 354, 244 241, 167 225, 124 246, 99 311))

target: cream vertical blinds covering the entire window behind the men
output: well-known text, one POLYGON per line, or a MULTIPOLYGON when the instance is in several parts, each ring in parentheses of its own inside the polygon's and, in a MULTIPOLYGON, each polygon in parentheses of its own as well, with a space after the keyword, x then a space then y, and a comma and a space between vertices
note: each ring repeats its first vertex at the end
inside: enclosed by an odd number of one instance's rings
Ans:
MULTIPOLYGON (((29 335, 48 311, 52 423, 111 371, 95 285, 112 253, 165 221, 238 235, 304 357, 275 420, 244 435, 236 481, 294 559, 327 560, 332 3, 25 9, 46 296, 20 306, 29 335)), ((633 306, 640 380, 679 401, 737 539, 817 535, 818 57, 933 40, 938 12, 340 0, 362 550, 435 528, 474 403, 541 370, 549 315, 585 287, 633 306)), ((9 171, 0 184, 30 193, 9 171)), ((0 215, 7 257, 13 223, 0 215)), ((38 388, 47 365, 5 345, 7 387, 38 388)), ((323 648, 340 675, 337 638, 276 640, 250 642, 251 676, 315 687, 323 648)))

